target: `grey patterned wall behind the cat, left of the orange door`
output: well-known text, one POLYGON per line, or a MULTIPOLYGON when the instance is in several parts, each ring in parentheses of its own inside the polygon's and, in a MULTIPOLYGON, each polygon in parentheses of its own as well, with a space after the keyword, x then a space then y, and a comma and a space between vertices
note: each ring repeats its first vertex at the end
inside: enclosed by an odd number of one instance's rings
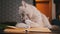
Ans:
MULTIPOLYGON (((32 4, 32 0, 25 0, 32 4)), ((21 0, 1 0, 0 22, 14 21, 20 22, 19 6, 21 6, 21 0)))

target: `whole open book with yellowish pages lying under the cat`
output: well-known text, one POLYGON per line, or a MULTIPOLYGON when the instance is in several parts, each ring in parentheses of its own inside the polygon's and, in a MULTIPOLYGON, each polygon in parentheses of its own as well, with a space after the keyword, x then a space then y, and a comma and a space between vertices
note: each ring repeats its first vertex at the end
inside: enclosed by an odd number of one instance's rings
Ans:
POLYGON ((16 28, 13 26, 9 26, 4 30, 5 33, 25 33, 26 30, 28 32, 51 32, 48 28, 16 28))

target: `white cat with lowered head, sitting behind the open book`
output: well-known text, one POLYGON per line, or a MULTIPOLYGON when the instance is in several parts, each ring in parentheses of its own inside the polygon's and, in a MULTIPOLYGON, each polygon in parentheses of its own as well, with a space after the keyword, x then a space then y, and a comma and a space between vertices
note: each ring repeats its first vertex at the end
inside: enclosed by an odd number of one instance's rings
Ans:
POLYGON ((24 20, 25 24, 17 23, 16 27, 47 27, 51 28, 51 24, 49 23, 48 18, 42 14, 36 7, 22 1, 22 6, 19 7, 20 16, 24 14, 22 17, 22 21, 24 20))

